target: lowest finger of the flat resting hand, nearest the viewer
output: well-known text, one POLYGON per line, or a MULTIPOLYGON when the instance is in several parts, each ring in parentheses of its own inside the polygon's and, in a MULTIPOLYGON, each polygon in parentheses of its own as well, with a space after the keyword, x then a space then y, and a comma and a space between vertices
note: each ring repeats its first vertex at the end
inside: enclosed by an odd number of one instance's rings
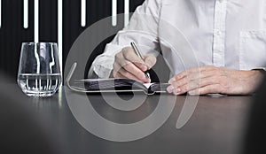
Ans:
POLYGON ((188 93, 192 96, 220 93, 220 85, 219 84, 207 85, 200 89, 193 89, 192 91, 189 91, 188 93))

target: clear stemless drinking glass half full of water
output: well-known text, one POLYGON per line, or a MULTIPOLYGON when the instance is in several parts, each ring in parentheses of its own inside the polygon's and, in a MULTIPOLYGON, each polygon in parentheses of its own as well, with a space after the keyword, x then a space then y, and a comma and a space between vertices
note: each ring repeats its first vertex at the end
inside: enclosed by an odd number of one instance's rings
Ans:
POLYGON ((62 81, 56 42, 22 42, 18 84, 27 96, 52 96, 62 81))

